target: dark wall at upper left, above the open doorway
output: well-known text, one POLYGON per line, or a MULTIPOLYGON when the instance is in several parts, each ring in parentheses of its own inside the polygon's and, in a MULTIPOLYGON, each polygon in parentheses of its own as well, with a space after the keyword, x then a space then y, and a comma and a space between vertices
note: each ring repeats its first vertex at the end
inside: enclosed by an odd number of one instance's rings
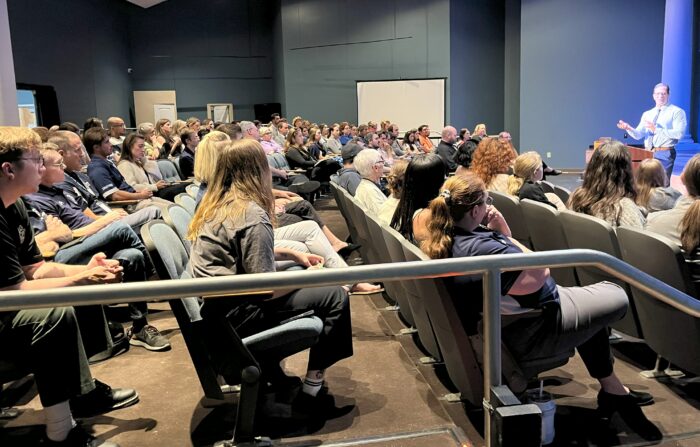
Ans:
POLYGON ((128 116, 126 2, 8 0, 7 9, 17 83, 53 86, 62 121, 128 116))

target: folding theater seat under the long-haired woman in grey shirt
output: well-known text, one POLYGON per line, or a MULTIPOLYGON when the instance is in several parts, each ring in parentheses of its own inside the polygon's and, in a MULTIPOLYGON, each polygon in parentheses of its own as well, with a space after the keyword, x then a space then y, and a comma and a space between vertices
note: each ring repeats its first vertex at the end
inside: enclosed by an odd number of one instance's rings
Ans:
MULTIPOLYGON (((168 224, 162 220, 149 222, 141 227, 141 235, 161 279, 189 277, 187 252, 168 224)), ((199 301, 193 297, 170 300, 205 395, 223 399, 217 379, 219 373, 229 385, 233 382, 241 384, 234 436, 227 445, 256 445, 253 424, 260 377, 264 373, 256 359, 279 363, 283 358, 313 346, 323 330, 319 318, 305 317, 241 339, 226 320, 226 314, 218 311, 217 305, 252 298, 260 299, 260 294, 211 299, 211 310, 207 312, 202 312, 199 301), (220 357, 223 355, 226 359, 220 357), (215 365, 224 364, 226 371, 215 370, 215 365)), ((207 306, 210 306, 209 302, 207 306)))

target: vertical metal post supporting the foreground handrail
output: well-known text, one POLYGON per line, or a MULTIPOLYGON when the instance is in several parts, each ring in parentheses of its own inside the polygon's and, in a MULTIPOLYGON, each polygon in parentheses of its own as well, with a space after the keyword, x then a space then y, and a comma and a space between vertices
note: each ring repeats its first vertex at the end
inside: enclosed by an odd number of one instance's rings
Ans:
POLYGON ((484 441, 491 446, 491 387, 501 384, 501 271, 484 272, 484 441))

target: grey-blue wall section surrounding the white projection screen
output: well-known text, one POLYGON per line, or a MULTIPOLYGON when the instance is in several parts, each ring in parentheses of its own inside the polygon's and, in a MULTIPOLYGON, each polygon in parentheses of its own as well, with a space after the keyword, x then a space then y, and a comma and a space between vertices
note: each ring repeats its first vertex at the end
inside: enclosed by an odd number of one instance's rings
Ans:
POLYGON ((449 120, 448 14, 449 0, 283 0, 283 111, 356 122, 357 80, 448 77, 449 120))

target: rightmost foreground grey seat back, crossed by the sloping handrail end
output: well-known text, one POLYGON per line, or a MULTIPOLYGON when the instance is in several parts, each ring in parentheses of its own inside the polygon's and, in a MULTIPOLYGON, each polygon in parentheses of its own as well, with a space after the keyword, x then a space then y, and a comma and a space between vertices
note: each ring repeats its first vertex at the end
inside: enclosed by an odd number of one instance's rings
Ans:
MULTIPOLYGON (((670 239, 631 227, 619 227, 622 259, 669 286, 698 298, 680 247, 670 239), (653 255, 650 255, 652 254, 653 255)), ((644 341, 674 365, 700 374, 700 319, 632 287, 644 341)), ((693 302, 700 308, 700 301, 693 302)))

